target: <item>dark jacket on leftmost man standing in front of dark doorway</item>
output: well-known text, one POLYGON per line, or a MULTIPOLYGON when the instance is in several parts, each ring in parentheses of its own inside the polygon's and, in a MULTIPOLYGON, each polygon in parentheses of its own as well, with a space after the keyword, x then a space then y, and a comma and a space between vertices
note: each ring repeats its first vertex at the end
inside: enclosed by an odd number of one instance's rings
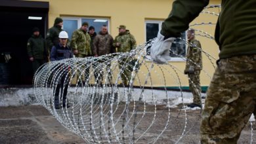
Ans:
POLYGON ((32 37, 28 39, 27 50, 28 56, 37 60, 43 60, 48 56, 48 52, 45 49, 45 39, 43 39, 41 35, 38 37, 32 35, 32 37))

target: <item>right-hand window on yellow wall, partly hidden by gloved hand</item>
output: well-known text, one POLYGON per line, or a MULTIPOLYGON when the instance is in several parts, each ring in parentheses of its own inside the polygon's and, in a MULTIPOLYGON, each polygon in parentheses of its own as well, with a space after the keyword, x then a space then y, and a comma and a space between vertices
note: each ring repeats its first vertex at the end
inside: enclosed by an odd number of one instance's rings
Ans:
MULTIPOLYGON (((145 22, 146 27, 146 41, 154 39, 158 36, 158 31, 161 29, 162 21, 153 21, 147 20, 145 22)), ((175 42, 171 45, 171 61, 184 61, 181 57, 186 56, 186 42, 182 39, 186 39, 185 31, 181 34, 181 39, 176 39, 175 42)), ((147 54, 150 54, 150 48, 146 50, 147 54)))

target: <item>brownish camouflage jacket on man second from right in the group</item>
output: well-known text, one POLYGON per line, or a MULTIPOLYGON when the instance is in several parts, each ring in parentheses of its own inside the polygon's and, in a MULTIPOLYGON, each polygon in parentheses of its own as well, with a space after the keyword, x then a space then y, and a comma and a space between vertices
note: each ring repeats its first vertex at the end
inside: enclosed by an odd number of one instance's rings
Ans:
POLYGON ((116 48, 113 46, 113 41, 113 37, 108 33, 103 35, 101 32, 99 32, 93 41, 93 54, 102 56, 104 54, 111 54, 116 52, 116 48))

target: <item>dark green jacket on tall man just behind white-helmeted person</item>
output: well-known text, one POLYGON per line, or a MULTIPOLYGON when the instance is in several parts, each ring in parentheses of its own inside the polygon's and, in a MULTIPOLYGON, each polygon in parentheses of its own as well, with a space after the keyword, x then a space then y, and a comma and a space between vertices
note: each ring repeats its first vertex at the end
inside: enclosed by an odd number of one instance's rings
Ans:
POLYGON ((62 31, 61 27, 58 25, 55 25, 48 29, 47 35, 46 35, 46 48, 51 52, 51 49, 53 46, 58 45, 60 43, 60 39, 58 38, 58 34, 62 31))

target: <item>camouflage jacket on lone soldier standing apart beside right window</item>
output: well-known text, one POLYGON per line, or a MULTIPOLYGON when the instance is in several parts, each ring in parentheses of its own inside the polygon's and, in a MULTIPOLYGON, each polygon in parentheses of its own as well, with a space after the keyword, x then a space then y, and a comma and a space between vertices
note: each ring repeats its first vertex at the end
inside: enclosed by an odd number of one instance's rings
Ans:
POLYGON ((202 49, 200 41, 193 39, 189 41, 188 50, 186 53, 186 68, 189 69, 190 66, 194 66, 194 70, 202 70, 202 49))

